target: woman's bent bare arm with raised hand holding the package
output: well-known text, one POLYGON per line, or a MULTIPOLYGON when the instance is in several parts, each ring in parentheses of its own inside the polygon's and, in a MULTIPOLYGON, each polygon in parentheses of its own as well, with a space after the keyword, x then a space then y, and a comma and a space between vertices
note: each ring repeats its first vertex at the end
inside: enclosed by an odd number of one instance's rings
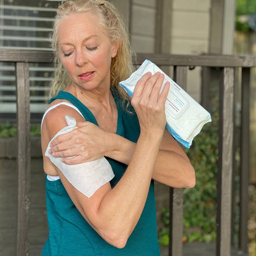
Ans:
MULTIPOLYGON (((141 134, 125 174, 113 189, 110 183, 106 183, 87 198, 66 180, 61 170, 54 167, 82 216, 105 241, 119 248, 125 246, 142 214, 166 124, 164 102, 169 86, 158 97, 163 80, 163 76, 158 76, 143 76, 137 92, 134 92, 132 105, 138 115, 141 134)), ((61 108, 60 113, 53 110, 53 116, 49 113, 46 127, 43 127, 45 138, 52 138, 57 130, 65 126, 60 121, 65 114, 66 111, 61 108), (54 124, 50 124, 52 120, 54 124)), ((44 161, 49 164, 49 159, 44 158, 44 161)))

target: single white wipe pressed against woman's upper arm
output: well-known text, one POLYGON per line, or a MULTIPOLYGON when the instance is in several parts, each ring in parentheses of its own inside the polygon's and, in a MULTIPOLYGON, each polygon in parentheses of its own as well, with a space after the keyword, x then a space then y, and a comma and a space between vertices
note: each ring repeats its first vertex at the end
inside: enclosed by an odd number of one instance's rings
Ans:
MULTIPOLYGON (((71 132, 77 128, 76 119, 69 115, 66 115, 65 119, 68 126, 60 130, 54 136, 54 138, 60 134, 71 132)), ((52 140, 54 140, 54 138, 52 138, 52 140)), ((50 142, 52 142, 52 140, 50 142)), ((48 156, 50 161, 61 170, 62 174, 65 176, 68 182, 74 186, 74 188, 88 198, 90 198, 90 196, 92 196, 92 194, 94 194, 98 188, 110 182, 110 180, 112 180, 114 177, 113 170, 106 158, 102 157, 95 161, 84 162, 82 164, 65 164, 62 162, 62 158, 54 158, 54 156, 49 153, 50 142, 45 156, 48 156)))

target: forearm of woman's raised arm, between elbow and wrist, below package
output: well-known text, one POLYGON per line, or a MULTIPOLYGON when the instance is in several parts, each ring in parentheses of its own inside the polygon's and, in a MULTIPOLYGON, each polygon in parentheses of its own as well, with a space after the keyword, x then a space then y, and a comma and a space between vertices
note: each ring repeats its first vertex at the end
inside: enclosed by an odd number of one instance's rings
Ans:
POLYGON ((124 176, 98 207, 98 219, 108 220, 101 225, 104 232, 114 230, 121 233, 116 235, 128 238, 134 230, 145 206, 160 142, 156 138, 138 139, 124 176))

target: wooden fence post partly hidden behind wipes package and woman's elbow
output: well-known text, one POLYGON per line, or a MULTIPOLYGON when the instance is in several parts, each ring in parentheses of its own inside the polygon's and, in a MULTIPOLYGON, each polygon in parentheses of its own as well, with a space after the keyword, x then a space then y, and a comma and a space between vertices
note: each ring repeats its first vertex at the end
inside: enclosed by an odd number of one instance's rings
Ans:
MULTIPOLYGON (((186 66, 174 67, 174 80, 186 89, 186 66)), ((183 188, 170 188, 169 256, 182 256, 183 188)))

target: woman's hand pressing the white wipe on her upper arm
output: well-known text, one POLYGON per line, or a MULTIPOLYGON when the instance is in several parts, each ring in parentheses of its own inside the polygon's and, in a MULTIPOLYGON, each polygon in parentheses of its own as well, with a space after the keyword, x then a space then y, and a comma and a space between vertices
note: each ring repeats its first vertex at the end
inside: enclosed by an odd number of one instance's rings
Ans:
POLYGON ((58 135, 50 143, 52 156, 63 158, 66 164, 80 164, 101 158, 111 150, 113 134, 92 122, 77 122, 76 126, 77 129, 58 135))

